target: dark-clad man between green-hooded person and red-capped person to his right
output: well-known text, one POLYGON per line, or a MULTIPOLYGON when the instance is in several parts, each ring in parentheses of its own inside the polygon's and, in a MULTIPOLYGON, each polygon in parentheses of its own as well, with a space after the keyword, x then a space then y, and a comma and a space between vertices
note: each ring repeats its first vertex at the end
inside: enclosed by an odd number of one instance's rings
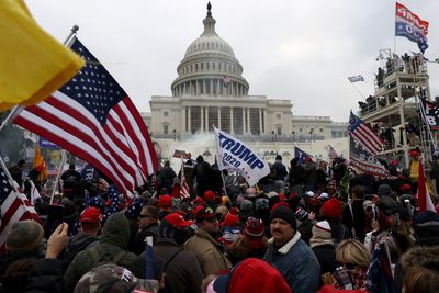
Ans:
POLYGON ((154 243, 159 237, 158 207, 145 205, 138 215, 138 232, 131 243, 130 250, 136 255, 145 251, 145 237, 153 236, 154 243))

